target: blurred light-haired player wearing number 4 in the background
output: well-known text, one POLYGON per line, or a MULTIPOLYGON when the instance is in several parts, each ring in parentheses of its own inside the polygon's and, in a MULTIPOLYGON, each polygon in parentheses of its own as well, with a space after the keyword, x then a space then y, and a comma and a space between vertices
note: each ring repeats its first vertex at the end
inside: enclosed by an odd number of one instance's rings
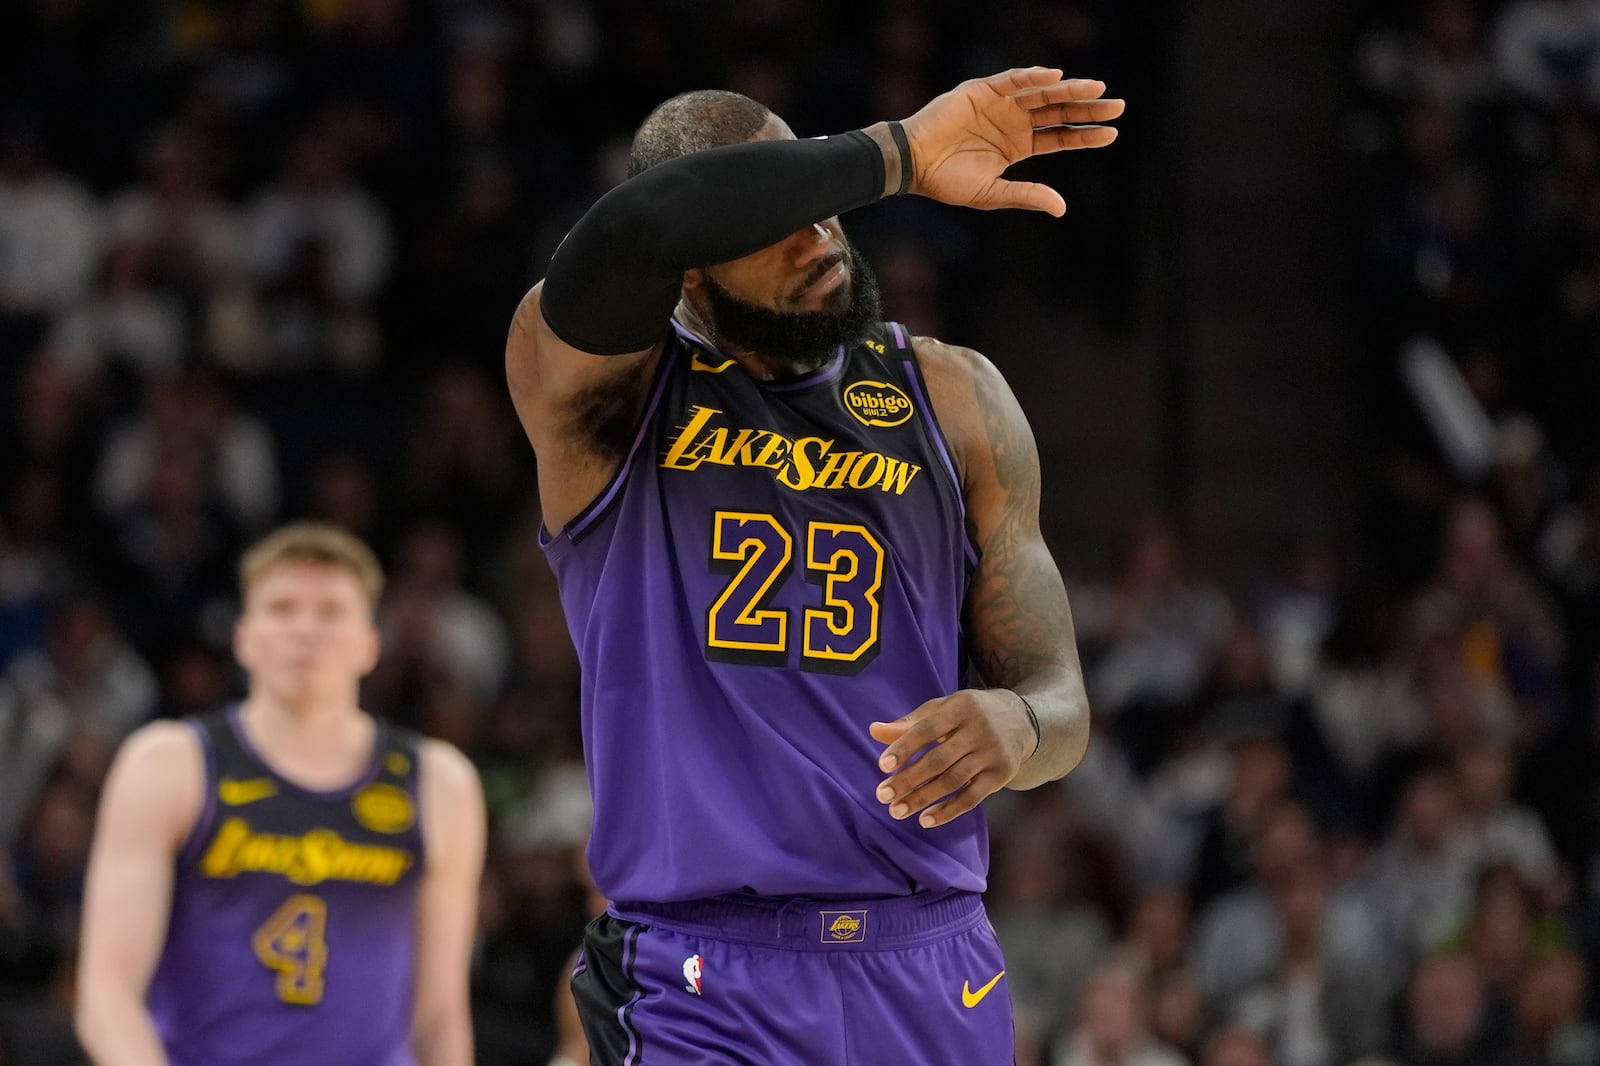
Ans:
POLYGON ((77 1024, 99 1066, 469 1066, 483 799, 454 747, 360 709, 378 560, 314 523, 240 563, 242 704, 118 752, 77 1024))

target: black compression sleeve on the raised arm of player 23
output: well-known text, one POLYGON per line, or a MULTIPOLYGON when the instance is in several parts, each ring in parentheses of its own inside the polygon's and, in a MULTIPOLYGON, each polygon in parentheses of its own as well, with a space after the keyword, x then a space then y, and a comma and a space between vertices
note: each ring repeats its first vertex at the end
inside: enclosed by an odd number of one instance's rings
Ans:
POLYGON ((883 195, 883 152, 859 130, 691 152, 600 197, 550 258, 541 307, 582 352, 661 339, 683 271, 747 256, 883 195))

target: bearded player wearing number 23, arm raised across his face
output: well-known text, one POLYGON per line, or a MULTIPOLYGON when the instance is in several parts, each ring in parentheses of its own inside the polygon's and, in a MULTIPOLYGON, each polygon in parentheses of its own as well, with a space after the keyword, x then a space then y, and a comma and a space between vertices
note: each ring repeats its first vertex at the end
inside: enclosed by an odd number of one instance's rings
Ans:
POLYGON ((987 360, 878 320, 837 214, 1061 214, 1002 174, 1109 144, 1104 88, 1010 70, 806 141, 674 98, 518 307, 611 900, 595 1063, 1011 1063, 978 805, 1088 738, 1038 456, 987 360))

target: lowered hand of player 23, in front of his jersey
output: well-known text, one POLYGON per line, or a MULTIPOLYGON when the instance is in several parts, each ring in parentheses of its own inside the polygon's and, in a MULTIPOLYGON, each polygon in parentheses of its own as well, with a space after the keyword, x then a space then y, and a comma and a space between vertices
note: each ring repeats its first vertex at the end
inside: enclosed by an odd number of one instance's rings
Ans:
POLYGON ((922 812, 917 821, 925 829, 1003 789, 1035 747, 1022 701, 1005 688, 963 688, 867 728, 872 739, 888 744, 878 757, 878 768, 890 775, 878 786, 878 802, 888 804, 894 820, 922 812))

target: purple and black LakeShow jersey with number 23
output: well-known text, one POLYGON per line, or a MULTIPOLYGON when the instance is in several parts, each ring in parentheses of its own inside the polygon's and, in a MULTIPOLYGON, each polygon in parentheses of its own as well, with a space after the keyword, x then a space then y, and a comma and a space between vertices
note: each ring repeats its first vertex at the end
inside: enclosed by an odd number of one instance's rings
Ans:
POLYGON ((867 725, 962 683, 976 562, 899 325, 781 383, 675 325, 616 477, 544 539, 608 898, 984 888, 982 813, 874 795, 867 725))

